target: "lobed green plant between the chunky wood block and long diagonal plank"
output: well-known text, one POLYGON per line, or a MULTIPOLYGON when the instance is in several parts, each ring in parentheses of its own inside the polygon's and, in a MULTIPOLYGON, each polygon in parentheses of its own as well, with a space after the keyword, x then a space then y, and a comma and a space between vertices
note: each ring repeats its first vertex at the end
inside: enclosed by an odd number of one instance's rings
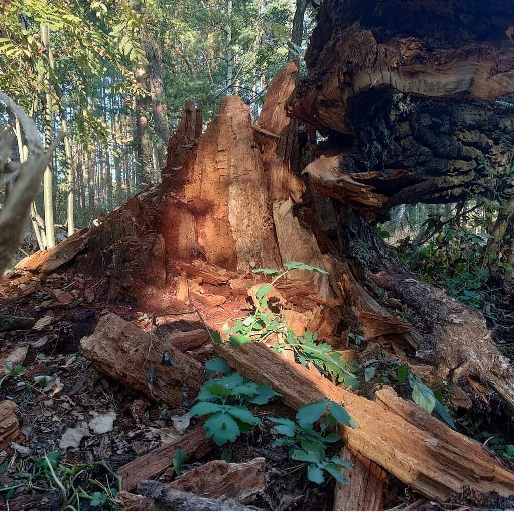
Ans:
POLYGON ((221 358, 207 361, 206 368, 224 376, 210 378, 201 386, 196 397, 197 403, 191 408, 190 414, 208 416, 204 429, 218 446, 235 441, 241 433, 261 423, 247 404, 263 405, 271 398, 281 396, 269 386, 251 382, 240 373, 229 373, 230 368, 221 358))

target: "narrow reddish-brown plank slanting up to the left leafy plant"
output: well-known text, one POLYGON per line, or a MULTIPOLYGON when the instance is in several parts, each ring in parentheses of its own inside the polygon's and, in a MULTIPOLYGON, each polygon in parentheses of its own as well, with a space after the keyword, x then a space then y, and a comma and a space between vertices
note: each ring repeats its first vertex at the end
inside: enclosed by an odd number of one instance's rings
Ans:
POLYGON ((170 467, 178 450, 185 452, 190 459, 199 459, 209 453, 211 443, 205 436, 203 425, 198 425, 175 443, 163 444, 121 466, 118 474, 123 479, 123 488, 135 489, 139 482, 153 478, 170 467))

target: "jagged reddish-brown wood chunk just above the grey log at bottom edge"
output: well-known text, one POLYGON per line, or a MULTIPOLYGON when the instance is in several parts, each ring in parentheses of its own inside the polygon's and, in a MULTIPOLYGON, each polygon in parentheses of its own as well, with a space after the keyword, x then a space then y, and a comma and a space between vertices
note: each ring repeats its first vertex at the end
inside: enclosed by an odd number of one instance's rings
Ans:
POLYGON ((203 498, 219 499, 225 496, 245 505, 266 492, 268 484, 264 469, 264 458, 237 464, 210 461, 182 474, 169 487, 203 498))

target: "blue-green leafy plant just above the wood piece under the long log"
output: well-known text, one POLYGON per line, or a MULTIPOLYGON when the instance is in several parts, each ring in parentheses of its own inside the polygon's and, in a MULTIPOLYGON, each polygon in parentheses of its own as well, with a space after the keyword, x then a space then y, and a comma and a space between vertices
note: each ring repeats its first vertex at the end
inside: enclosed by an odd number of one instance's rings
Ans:
POLYGON ((352 470, 352 465, 338 456, 328 458, 326 455, 327 445, 341 440, 339 434, 333 431, 338 423, 356 427, 352 416, 344 407, 333 400, 324 399, 300 407, 296 414, 297 422, 289 418, 268 419, 277 424, 274 429, 284 436, 278 438, 274 445, 289 447, 291 459, 307 463, 307 478, 311 482, 322 484, 327 473, 342 484, 348 483, 341 469, 352 470), (327 407, 325 422, 315 427, 327 407))

